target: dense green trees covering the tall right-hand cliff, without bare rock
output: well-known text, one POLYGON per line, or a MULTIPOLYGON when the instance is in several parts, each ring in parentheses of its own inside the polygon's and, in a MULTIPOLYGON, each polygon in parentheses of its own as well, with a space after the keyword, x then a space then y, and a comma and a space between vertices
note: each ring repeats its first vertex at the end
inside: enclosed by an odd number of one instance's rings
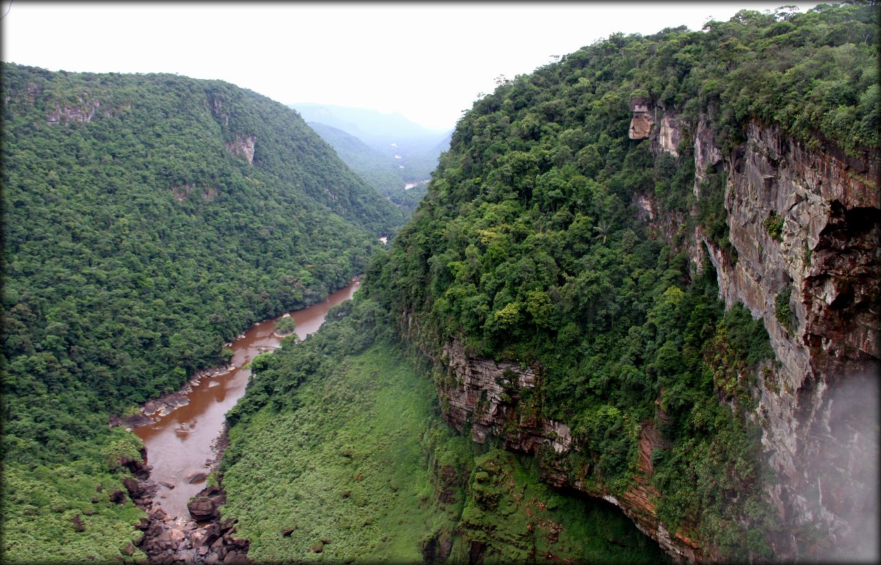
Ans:
POLYGON ((463 116, 364 289, 412 313, 408 327, 438 357, 459 338, 473 355, 540 365, 541 415, 566 422, 589 454, 573 479, 626 491, 640 426, 653 423, 666 446, 650 477, 664 523, 722 553, 768 557, 774 512, 750 390, 773 353, 760 321, 724 312, 708 257, 696 272, 685 255, 695 223, 722 249, 728 233, 722 172, 700 171, 692 191, 699 119, 723 152, 753 120, 809 146, 877 147, 877 8, 741 11, 705 32, 613 34, 500 85, 463 116), (628 138, 632 97, 692 128, 678 156, 628 138), (639 197, 685 218, 670 244, 636 219, 639 197))

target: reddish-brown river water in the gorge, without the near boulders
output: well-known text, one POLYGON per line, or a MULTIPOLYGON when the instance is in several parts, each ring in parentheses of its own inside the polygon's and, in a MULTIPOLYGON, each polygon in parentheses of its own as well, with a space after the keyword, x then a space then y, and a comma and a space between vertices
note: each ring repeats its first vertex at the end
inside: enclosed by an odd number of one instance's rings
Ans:
MULTIPOLYGON (((325 301, 306 309, 291 312, 300 338, 317 331, 328 310, 352 298, 360 283, 355 280, 325 301)), ((189 404, 174 409, 166 416, 155 414, 153 424, 136 427, 134 432, 144 440, 147 464, 152 465, 151 479, 159 485, 154 503, 170 516, 189 517, 189 498, 204 488, 204 480, 187 482, 190 472, 207 471, 214 456, 211 442, 223 427, 226 412, 245 394, 251 372, 242 368, 267 347, 278 347, 281 338, 274 335, 277 320, 251 326, 243 338, 233 341, 235 369, 225 375, 203 377, 185 396, 189 404), (169 488, 161 483, 167 483, 169 488)))

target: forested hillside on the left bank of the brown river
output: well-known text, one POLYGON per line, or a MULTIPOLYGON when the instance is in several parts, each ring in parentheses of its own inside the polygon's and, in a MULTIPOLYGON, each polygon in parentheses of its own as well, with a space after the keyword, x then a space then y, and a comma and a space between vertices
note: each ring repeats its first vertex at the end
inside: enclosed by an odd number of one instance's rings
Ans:
POLYGON ((403 215, 223 82, 4 63, 3 96, 4 561, 109 561, 137 510, 107 473, 137 438, 108 416, 344 286, 403 215))

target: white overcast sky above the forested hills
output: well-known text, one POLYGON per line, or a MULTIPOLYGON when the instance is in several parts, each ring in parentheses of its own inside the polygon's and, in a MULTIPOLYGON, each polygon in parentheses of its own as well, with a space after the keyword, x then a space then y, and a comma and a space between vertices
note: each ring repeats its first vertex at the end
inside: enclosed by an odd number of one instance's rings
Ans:
POLYGON ((3 60, 219 78, 285 104, 397 111, 448 129, 514 78, 611 33, 699 30, 780 2, 82 3, 0 0, 3 60), (8 9, 8 11, 7 11, 8 9))

